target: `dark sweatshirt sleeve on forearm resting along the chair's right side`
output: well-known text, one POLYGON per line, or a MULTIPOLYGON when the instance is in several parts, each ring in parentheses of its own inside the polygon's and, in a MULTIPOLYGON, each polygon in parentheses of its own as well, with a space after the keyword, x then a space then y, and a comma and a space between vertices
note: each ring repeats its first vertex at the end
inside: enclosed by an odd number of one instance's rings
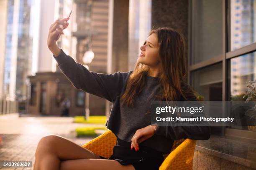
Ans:
MULTIPOLYGON (((190 101, 195 99, 190 99, 190 101)), ((204 113, 202 113, 204 115, 204 113)), ((172 140, 193 139, 193 140, 208 140, 210 138, 210 125, 206 126, 158 126, 156 135, 162 135, 172 140)))

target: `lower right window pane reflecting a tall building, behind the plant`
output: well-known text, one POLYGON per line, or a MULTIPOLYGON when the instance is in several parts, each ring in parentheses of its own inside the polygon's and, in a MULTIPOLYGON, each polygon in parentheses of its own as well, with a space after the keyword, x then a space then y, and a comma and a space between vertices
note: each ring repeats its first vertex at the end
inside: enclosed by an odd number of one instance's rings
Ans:
MULTIPOLYGON (((256 52, 252 52, 246 55, 241 55, 239 57, 235 57, 230 59, 229 65, 229 97, 231 101, 246 101, 245 90, 248 90, 249 82, 256 80, 256 52), (234 64, 236 63, 236 64, 234 64), (233 70, 236 70, 234 72, 233 70)), ((252 83, 251 85, 254 86, 254 90, 251 93, 255 94, 255 86, 256 83, 252 83)), ((252 100, 256 100, 256 97, 252 100)), ((243 110, 241 115, 246 114, 247 110, 243 110)), ((230 128, 233 129, 241 129, 241 130, 251 130, 256 131, 256 126, 236 126, 232 125, 230 128)))

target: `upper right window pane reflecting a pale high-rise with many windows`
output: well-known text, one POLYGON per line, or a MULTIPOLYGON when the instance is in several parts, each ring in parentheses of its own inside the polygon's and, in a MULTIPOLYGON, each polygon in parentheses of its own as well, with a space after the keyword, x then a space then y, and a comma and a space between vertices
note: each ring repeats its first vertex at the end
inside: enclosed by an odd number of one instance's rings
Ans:
POLYGON ((255 6, 256 1, 229 0, 229 45, 228 50, 233 51, 250 45, 255 41, 255 6))

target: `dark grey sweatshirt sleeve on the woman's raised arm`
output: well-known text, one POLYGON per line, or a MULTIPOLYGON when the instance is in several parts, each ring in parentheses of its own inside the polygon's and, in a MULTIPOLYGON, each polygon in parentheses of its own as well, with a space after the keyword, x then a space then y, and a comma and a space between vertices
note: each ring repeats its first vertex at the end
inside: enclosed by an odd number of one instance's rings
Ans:
POLYGON ((103 74, 89 71, 83 65, 75 62, 72 57, 66 55, 62 49, 60 54, 54 56, 54 58, 60 70, 75 88, 102 97, 110 102, 115 101, 118 91, 123 87, 125 77, 128 76, 128 72, 103 74))

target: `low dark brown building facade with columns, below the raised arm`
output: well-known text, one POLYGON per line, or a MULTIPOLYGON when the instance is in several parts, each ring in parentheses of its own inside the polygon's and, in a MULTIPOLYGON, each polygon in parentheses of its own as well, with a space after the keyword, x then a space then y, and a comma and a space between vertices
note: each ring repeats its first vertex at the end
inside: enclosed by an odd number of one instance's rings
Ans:
POLYGON ((60 116, 65 97, 70 101, 69 116, 84 115, 84 92, 77 90, 62 72, 37 72, 30 76, 29 112, 35 116, 60 116))

